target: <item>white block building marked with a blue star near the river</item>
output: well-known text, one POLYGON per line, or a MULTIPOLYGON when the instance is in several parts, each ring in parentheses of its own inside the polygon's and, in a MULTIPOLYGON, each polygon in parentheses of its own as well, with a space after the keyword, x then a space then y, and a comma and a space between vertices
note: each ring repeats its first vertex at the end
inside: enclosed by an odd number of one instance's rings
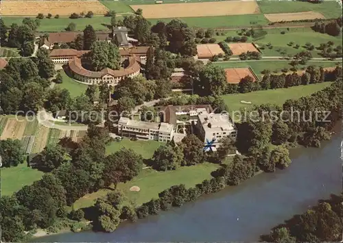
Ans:
POLYGON ((213 151, 222 138, 237 138, 237 128, 228 114, 199 114, 197 126, 204 146, 211 146, 213 151))

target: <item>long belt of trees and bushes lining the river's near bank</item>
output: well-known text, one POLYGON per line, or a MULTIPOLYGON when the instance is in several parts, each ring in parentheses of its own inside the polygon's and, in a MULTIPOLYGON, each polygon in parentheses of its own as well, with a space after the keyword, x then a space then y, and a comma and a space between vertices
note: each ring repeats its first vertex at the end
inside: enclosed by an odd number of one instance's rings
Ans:
MULTIPOLYGON (((93 208, 94 229, 112 232, 121 220, 136 221, 138 218, 145 218, 149 215, 159 214, 162 210, 171 207, 181 207, 187 202, 195 201, 203 194, 218 192, 226 186, 235 186, 249 179, 258 171, 273 172, 275 168, 286 168, 291 163, 288 148, 295 144, 304 146, 320 146, 320 140, 328 140, 330 129, 335 122, 340 120, 342 112, 342 80, 335 81, 331 86, 324 88, 310 97, 303 97, 298 100, 288 100, 281 107, 276 105, 260 105, 252 108, 256 110, 260 118, 265 120, 255 121, 248 117, 245 123, 239 125, 239 139, 237 148, 243 151, 245 156, 236 155, 233 162, 222 164, 222 168, 213 172, 213 178, 204 180, 195 188, 185 188, 185 185, 171 186, 158 194, 158 199, 152 199, 139 207, 134 205, 122 206, 120 192, 110 192, 106 199, 98 199, 93 208), (296 108, 305 118, 289 119, 287 122, 273 121, 272 117, 265 115, 272 110, 281 112, 296 108), (328 116, 330 122, 309 118, 315 110, 327 111, 327 114, 320 114, 320 118, 328 116), (302 120, 303 119, 303 120, 302 120)), ((285 114, 287 116, 289 114, 285 114)), ((283 117, 287 118, 287 117, 283 117)), ((224 143, 224 148, 219 153, 214 153, 213 158, 224 160, 229 151, 230 142, 224 143), (226 149, 225 149, 226 148, 226 149)), ((208 159, 211 161, 211 155, 208 159)), ((217 161, 217 159, 214 159, 217 161)))

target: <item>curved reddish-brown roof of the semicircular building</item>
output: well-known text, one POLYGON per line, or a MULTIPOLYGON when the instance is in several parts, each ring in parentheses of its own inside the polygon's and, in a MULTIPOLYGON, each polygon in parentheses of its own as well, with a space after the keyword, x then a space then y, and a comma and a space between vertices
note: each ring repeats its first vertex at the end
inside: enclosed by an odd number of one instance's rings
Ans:
POLYGON ((69 60, 69 68, 73 73, 77 73, 78 75, 82 75, 84 77, 95 77, 100 78, 104 77, 104 75, 111 75, 113 77, 123 77, 126 75, 130 75, 131 73, 136 73, 141 69, 139 62, 137 62, 136 57, 129 57, 128 58, 128 66, 126 68, 121 68, 120 70, 113 70, 111 68, 104 68, 102 71, 95 72, 89 71, 82 66, 81 60, 78 57, 73 57, 73 59, 69 60))

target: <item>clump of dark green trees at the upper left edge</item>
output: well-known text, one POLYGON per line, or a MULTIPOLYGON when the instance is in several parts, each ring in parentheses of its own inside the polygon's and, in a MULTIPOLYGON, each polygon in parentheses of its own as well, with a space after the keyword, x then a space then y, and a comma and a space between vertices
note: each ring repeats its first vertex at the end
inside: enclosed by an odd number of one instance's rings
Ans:
POLYGON ((1 46, 21 49, 21 55, 34 53, 35 32, 40 24, 39 19, 24 18, 22 25, 12 24, 10 29, 0 20, 1 46))

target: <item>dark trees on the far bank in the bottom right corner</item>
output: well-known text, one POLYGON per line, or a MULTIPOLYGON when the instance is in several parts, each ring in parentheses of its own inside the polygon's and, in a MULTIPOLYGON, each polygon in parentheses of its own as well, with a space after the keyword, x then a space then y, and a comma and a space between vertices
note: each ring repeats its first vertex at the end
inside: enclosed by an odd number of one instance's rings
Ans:
POLYGON ((343 194, 331 195, 304 214, 274 227, 263 242, 340 242, 343 232, 343 194))

